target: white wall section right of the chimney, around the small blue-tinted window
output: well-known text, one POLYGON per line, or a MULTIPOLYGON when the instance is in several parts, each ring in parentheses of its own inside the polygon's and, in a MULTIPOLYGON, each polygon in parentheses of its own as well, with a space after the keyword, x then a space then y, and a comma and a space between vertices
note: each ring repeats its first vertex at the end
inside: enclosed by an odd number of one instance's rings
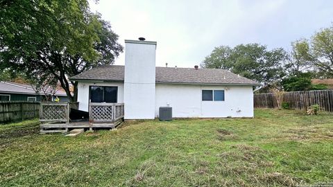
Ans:
POLYGON ((253 117, 251 86, 156 84, 155 116, 159 107, 172 107, 176 118, 253 117), (225 89, 228 88, 228 89, 225 89), (202 101, 201 90, 223 89, 224 101, 202 101))

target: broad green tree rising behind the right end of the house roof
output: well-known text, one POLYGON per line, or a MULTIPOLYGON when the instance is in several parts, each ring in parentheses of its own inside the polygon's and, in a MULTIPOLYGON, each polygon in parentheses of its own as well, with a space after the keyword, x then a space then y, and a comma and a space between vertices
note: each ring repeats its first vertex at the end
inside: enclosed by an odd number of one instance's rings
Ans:
POLYGON ((282 64, 286 57, 282 48, 268 51, 266 46, 259 44, 240 44, 234 48, 219 46, 205 57, 201 66, 226 69, 264 85, 272 85, 284 76, 282 64))

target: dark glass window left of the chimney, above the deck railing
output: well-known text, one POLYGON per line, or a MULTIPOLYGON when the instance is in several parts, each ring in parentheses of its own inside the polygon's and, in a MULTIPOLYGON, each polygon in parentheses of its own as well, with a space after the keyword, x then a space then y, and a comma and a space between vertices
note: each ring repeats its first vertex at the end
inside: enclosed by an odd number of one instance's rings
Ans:
POLYGON ((117 103, 118 87, 90 87, 91 103, 117 103))

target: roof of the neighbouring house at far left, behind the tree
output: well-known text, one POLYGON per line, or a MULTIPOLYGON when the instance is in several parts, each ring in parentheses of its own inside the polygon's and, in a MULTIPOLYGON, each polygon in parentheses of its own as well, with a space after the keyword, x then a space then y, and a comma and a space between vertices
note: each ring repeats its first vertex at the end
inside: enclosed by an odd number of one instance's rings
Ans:
MULTIPOLYGON (((31 94, 36 95, 35 89, 29 84, 19 84, 16 82, 0 81, 0 92, 8 94, 31 94)), ((43 95, 43 93, 40 93, 43 95)), ((65 91, 56 91, 55 96, 67 96, 65 91)))

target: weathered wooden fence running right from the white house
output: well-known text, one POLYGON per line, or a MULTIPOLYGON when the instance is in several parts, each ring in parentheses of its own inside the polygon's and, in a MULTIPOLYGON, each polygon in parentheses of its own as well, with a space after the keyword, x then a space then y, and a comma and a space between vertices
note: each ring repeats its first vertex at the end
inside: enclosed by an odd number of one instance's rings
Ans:
MULTIPOLYGON (((311 105, 319 105, 321 110, 333 112, 333 89, 314 91, 290 91, 283 94, 282 102, 288 103, 291 109, 307 109, 311 105)), ((275 94, 255 94, 256 108, 278 108, 275 94)))

